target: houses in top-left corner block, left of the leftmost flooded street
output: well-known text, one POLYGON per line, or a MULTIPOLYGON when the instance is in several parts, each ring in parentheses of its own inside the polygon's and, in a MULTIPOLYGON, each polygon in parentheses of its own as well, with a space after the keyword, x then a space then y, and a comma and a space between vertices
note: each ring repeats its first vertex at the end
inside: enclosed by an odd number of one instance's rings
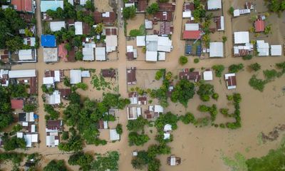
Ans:
POLYGON ((9 5, 2 5, 2 9, 13 8, 19 13, 21 19, 27 24, 26 28, 20 29, 19 34, 24 38, 25 48, 18 51, 0 50, 0 61, 2 63, 33 63, 37 61, 37 38, 34 13, 36 1, 34 0, 11 0, 9 5))

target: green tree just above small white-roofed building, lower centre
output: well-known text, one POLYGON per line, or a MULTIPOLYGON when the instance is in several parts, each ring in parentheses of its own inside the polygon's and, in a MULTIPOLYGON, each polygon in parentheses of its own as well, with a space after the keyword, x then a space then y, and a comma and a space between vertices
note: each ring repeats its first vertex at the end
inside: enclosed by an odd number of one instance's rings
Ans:
POLYGON ((166 114, 160 115, 160 117, 155 120, 155 127, 157 128, 157 130, 163 130, 166 124, 170 124, 172 125, 172 130, 176 130, 178 120, 179 118, 177 117, 177 115, 168 112, 166 114))

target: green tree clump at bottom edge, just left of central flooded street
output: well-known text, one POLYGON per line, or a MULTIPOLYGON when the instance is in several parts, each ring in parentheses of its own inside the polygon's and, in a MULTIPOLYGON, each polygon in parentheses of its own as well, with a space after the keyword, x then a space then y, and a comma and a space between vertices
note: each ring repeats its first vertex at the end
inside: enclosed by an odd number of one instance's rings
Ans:
POLYGON ((91 163, 91 170, 96 171, 118 171, 119 153, 116 151, 110 151, 104 155, 96 154, 96 159, 91 163))

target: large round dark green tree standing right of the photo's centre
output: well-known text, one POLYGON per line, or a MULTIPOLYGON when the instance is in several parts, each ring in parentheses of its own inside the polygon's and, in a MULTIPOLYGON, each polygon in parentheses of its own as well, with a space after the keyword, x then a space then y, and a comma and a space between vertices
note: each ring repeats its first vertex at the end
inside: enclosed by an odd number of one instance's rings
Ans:
POLYGON ((195 95, 195 85, 187 80, 181 80, 176 85, 171 94, 171 100, 174 103, 179 101, 182 105, 187 107, 188 100, 195 95))

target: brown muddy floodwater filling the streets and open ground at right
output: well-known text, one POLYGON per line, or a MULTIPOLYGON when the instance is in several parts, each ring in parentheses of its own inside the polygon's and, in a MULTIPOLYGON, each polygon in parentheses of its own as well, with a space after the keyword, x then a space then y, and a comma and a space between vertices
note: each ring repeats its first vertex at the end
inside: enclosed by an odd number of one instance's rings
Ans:
MULTIPOLYGON (((257 2, 257 1, 256 1, 257 2)), ((120 2, 119 2, 120 3, 120 2)), ((43 101, 41 100, 41 84, 43 72, 46 69, 68 69, 68 68, 95 68, 99 71, 101 68, 118 68, 118 84, 120 87, 120 94, 123 97, 127 97, 127 85, 126 85, 126 68, 130 66, 135 66, 142 69, 157 69, 157 68, 167 68, 169 71, 177 73, 178 68, 182 68, 178 64, 178 57, 184 53, 185 42, 180 40, 181 36, 181 14, 182 14, 182 4, 183 1, 177 1, 177 6, 175 10, 175 20, 174 26, 175 30, 172 35, 172 43, 174 50, 170 53, 165 62, 157 63, 145 63, 144 61, 126 61, 125 58, 125 36, 123 34, 123 27, 119 27, 119 37, 118 37, 118 61, 107 61, 107 62, 76 62, 76 63, 55 63, 46 64, 43 63, 41 48, 38 51, 38 63, 36 64, 23 64, 19 66, 14 66, 13 69, 30 69, 36 68, 38 71, 38 100, 40 108, 38 109, 39 119, 39 134, 41 139, 41 144, 39 148, 33 148, 28 150, 28 152, 41 152, 44 155, 44 160, 41 162, 41 166, 44 167, 48 160, 52 159, 65 159, 68 160, 68 154, 63 155, 58 151, 57 147, 46 147, 45 142, 45 120, 43 112, 43 101)), ((225 16, 225 34, 227 35, 228 41, 225 44, 225 54, 226 58, 223 59, 209 59, 200 61, 197 64, 187 63, 185 68, 210 68, 212 65, 220 63, 224 66, 229 66, 232 63, 244 63, 247 66, 250 63, 258 62, 261 64, 262 69, 272 68, 270 65, 274 63, 285 61, 284 56, 281 57, 265 57, 265 58, 254 58, 251 61, 242 61, 241 58, 232 58, 232 24, 231 16, 227 14, 229 6, 242 6, 243 2, 237 1, 223 1, 224 6, 224 16, 225 16)), ((37 0, 37 19, 38 19, 38 36, 41 35, 40 26, 40 16, 39 16, 39 0, 37 0)), ((119 4, 120 6, 120 4, 119 4)), ((120 8, 120 7, 119 7, 120 8)), ((119 10, 120 13, 120 10, 119 10)), ((274 16, 272 16, 274 17, 274 16)), ((120 16, 119 16, 120 19, 120 16)), ((277 19, 279 25, 279 31, 284 28, 282 19, 277 19)), ((120 22, 118 22, 120 23, 120 22)), ((140 24, 136 24, 136 27, 140 24)), ((135 26, 133 26, 135 28, 135 26)), ((279 31, 274 31, 274 38, 279 38, 276 40, 271 40, 272 43, 284 43, 283 36, 284 33, 279 33, 279 31), (282 35, 282 36, 278 36, 282 35)), ((261 73, 259 73, 261 74, 261 73)), ((269 149, 276 147, 279 140, 274 142, 267 142, 265 145, 258 145, 257 135, 261 132, 269 133, 276 125, 285 122, 284 117, 284 94, 281 92, 285 83, 285 76, 277 79, 273 83, 266 85, 264 93, 259 93, 248 86, 249 78, 252 73, 249 73, 247 69, 237 74, 237 90, 229 91, 226 90, 224 86, 224 81, 222 84, 219 81, 212 81, 215 89, 220 93, 220 99, 217 102, 218 108, 224 108, 227 104, 227 100, 222 98, 223 95, 227 93, 239 92, 242 94, 241 103, 241 113, 242 113, 242 128, 239 130, 221 130, 219 128, 195 128, 192 125, 179 124, 178 130, 174 132, 174 141, 170 143, 172 147, 172 153, 182 157, 182 165, 178 167, 169 167, 166 165, 166 156, 160 156, 162 161, 161 170, 229 170, 224 166, 222 160, 220 159, 220 150, 224 152, 225 155, 232 156, 235 152, 240 151, 246 157, 254 157, 265 155, 269 149), (245 152, 245 148, 250 147, 249 152, 245 152)), ((138 78, 140 79, 140 78, 138 78)), ((217 78, 214 78, 217 79, 217 78)), ((171 105, 167 110, 172 111, 177 114, 184 114, 185 111, 190 111, 195 113, 195 115, 201 115, 197 113, 197 105, 199 105, 199 98, 195 96, 190 100, 189 108, 183 109, 180 106, 171 105), (180 111, 181 110, 181 111, 180 111)), ((220 117, 220 116, 219 116, 220 117)), ((218 118, 222 120, 222 118, 218 118)), ((127 117, 126 110, 120 110, 120 118, 118 122, 126 125, 127 117)), ((147 145, 155 143, 152 139, 147 142, 144 147, 129 147, 128 146, 128 133, 124 128, 124 133, 121 137, 120 142, 108 143, 108 145, 95 147, 94 145, 88 145, 84 148, 86 152, 106 152, 108 150, 118 150, 120 152, 120 170, 133 170, 130 165, 131 152, 132 150, 147 149, 147 145)), ((152 134, 150 134, 152 135, 152 134)), ((78 170, 78 167, 70 167, 71 170, 78 170)))

